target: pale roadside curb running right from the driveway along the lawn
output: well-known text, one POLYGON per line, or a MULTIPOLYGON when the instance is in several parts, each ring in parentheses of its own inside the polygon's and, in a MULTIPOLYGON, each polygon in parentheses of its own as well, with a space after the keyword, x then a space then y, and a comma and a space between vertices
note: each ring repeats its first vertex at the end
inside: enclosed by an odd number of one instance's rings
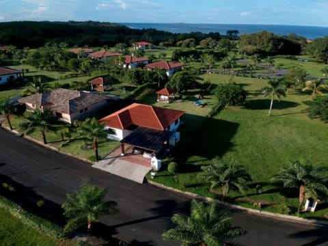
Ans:
MULTIPOLYGON (((149 184, 152 184, 155 187, 159 187, 161 189, 165 189, 167 191, 174 191, 176 193, 180 193, 182 195, 187 195, 188 197, 197 199, 197 200, 203 200, 206 202, 211 202, 215 199, 210 198, 210 197, 204 197, 202 195, 197 195, 195 193, 191 193, 189 191, 180 191, 179 189, 175 189, 172 187, 167 187, 163 184, 156 183, 151 180, 147 180, 149 184)), ((328 228, 328 221, 323 221, 323 220, 316 220, 316 219, 303 219, 300 217, 295 217, 292 215, 282 215, 282 214, 277 214, 277 213, 270 213, 267 211, 262 211, 262 210, 256 210, 252 208, 244 208, 243 206, 238 206, 234 204, 228 204, 227 202, 222 202, 220 200, 215 200, 220 206, 226 207, 226 208, 231 208, 232 210, 238 210, 243 213, 248 213, 250 215, 256 215, 256 216, 261 216, 261 217, 267 217, 267 218, 272 218, 272 219, 277 219, 279 221, 286 221, 286 222, 292 222, 292 223, 297 223, 297 224, 302 224, 302 225, 308 225, 308 226, 316 226, 316 227, 327 227, 328 228)))

